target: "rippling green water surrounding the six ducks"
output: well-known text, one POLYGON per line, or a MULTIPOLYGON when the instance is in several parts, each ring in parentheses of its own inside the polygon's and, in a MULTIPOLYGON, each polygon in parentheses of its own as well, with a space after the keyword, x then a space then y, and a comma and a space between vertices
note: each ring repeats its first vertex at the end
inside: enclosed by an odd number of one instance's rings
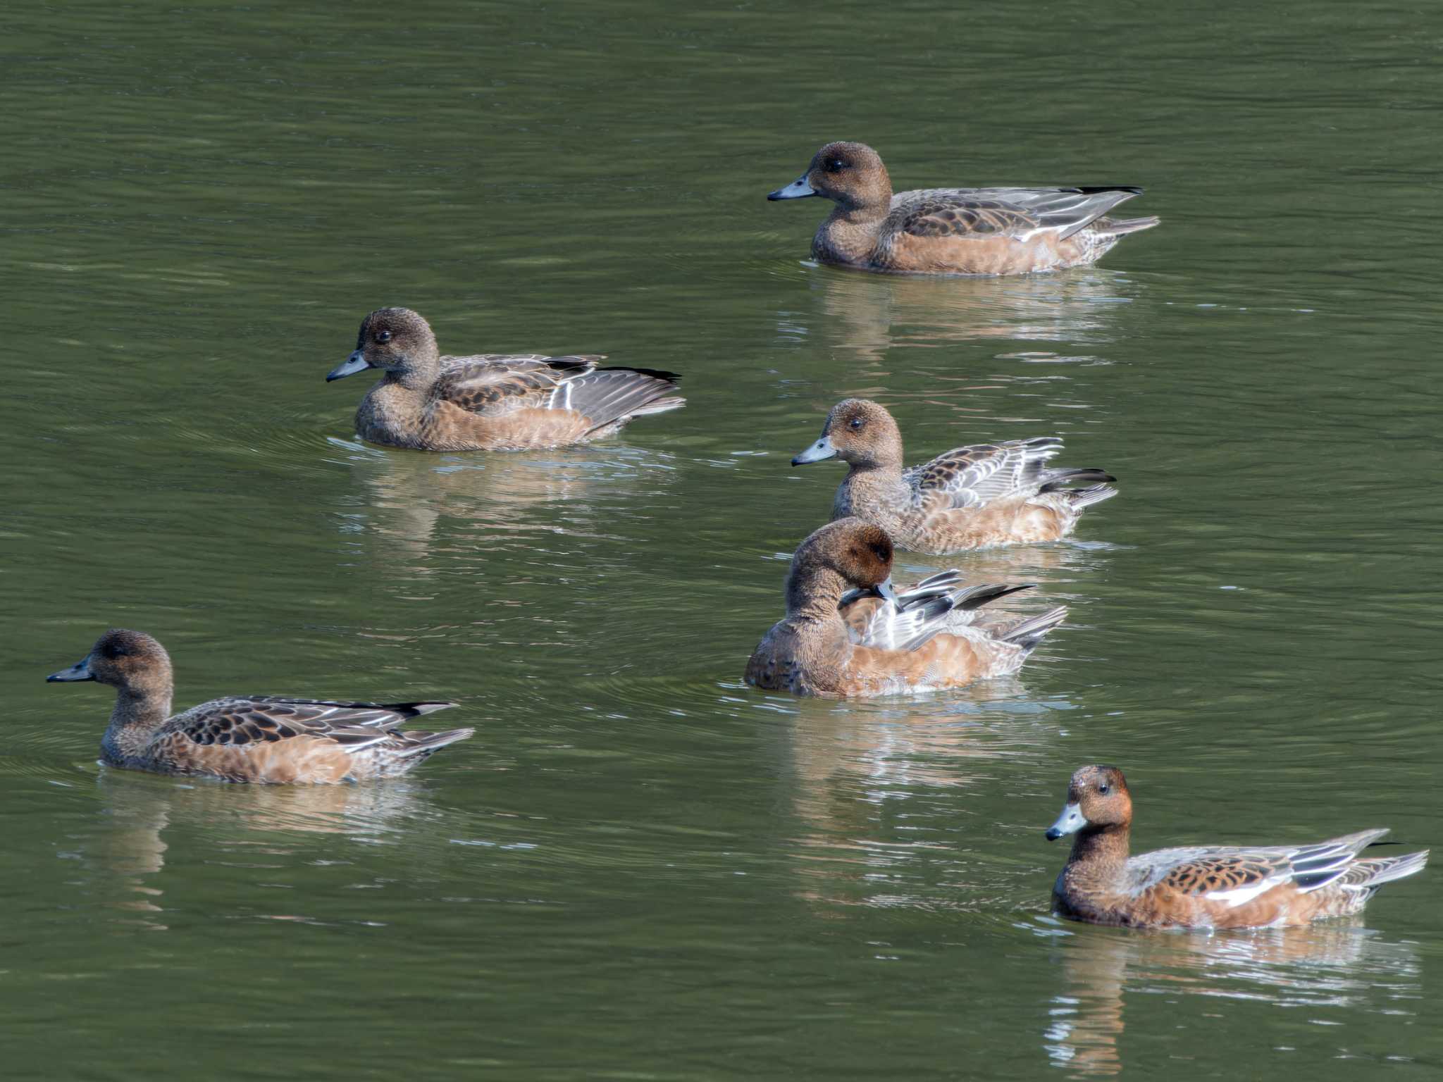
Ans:
POLYGON ((1443 9, 19 4, 4 16, 7 1079, 1436 1076, 1436 870, 1354 923, 1048 915, 1071 770, 1143 847, 1434 841, 1443 9), (893 280, 768 203, 828 138, 902 188, 1140 183, 1101 267, 893 280), (532 454, 355 441, 322 377, 444 349, 684 374, 532 454), (1121 478, 1016 678, 740 681, 872 395, 913 457, 1058 433, 1121 478), (177 705, 463 703, 411 779, 101 769, 108 625, 177 705))

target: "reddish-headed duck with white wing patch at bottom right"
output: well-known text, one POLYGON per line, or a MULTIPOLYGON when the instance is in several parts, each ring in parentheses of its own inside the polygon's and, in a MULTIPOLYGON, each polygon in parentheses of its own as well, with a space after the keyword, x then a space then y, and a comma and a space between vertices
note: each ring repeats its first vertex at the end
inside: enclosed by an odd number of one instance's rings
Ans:
POLYGON ((1059 916, 1123 928, 1291 928, 1358 913, 1429 851, 1364 857, 1387 830, 1309 845, 1198 845, 1128 856, 1133 798, 1115 766, 1084 766, 1048 840, 1076 835, 1052 887, 1059 916))

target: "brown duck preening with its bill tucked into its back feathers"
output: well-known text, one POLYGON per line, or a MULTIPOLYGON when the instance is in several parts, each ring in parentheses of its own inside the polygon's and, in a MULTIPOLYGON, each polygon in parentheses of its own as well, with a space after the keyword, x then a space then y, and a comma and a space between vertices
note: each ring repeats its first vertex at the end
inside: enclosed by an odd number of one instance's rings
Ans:
POLYGON ((892 589, 892 541, 844 518, 802 541, 786 573, 786 617, 746 664, 746 682, 797 695, 885 695, 960 688, 1016 672, 1066 609, 1001 628, 974 612, 1020 586, 957 589, 957 571, 892 589), (848 587, 861 593, 851 594, 848 587))

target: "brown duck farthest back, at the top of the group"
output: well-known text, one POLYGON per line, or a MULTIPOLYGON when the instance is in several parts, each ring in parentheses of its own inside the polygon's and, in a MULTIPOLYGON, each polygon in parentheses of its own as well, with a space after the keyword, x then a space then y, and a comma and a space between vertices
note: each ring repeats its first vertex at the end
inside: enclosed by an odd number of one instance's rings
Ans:
POLYGON ((1094 263, 1123 234, 1157 218, 1104 218, 1141 188, 929 188, 892 193, 866 143, 828 143, 807 172, 768 199, 837 203, 812 257, 874 271, 1030 274, 1094 263))

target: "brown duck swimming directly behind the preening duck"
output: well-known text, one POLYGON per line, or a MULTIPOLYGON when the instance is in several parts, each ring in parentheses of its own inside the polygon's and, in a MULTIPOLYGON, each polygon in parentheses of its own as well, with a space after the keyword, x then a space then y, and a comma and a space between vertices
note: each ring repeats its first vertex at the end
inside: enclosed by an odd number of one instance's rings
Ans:
POLYGON ((866 398, 847 398, 831 408, 821 439, 792 466, 841 459, 851 469, 833 501, 834 519, 853 515, 886 529, 898 548, 942 555, 1056 541, 1072 532, 1082 508, 1117 495, 1111 473, 1048 469, 1061 450, 1053 436, 980 443, 905 469, 892 414, 866 398), (1095 483, 1068 488, 1076 482, 1095 483))

